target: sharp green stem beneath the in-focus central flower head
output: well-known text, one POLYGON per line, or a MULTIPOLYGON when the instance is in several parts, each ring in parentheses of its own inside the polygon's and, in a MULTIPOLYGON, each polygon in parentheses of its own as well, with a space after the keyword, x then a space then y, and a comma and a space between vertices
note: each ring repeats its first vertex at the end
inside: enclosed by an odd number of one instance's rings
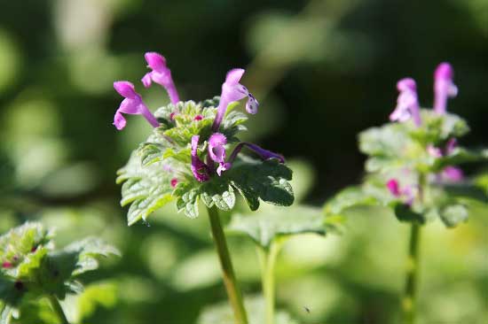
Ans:
POLYGON ((248 315, 242 302, 242 296, 240 294, 240 288, 235 278, 234 270, 232 267, 231 256, 227 243, 225 242, 224 231, 220 224, 220 218, 218 217, 218 211, 216 207, 207 208, 209 212, 210 228, 212 229, 212 236, 216 243, 216 251, 220 260, 220 266, 222 267, 222 274, 224 276, 224 285, 227 290, 227 296, 231 303, 232 310, 234 312, 235 322, 237 324, 248 324, 248 315))

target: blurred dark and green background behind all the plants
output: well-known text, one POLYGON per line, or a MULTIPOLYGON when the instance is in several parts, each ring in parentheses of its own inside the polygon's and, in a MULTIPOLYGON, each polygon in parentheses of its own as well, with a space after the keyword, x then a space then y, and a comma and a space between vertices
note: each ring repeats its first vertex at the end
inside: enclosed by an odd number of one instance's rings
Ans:
MULTIPOLYGON (((81 305, 77 322, 193 323, 225 298, 205 213, 188 220, 170 206, 150 227, 127 228, 118 204, 115 171, 150 127, 132 116, 116 131, 112 82, 138 84, 146 51, 168 59, 183 99, 216 96, 226 71, 246 68, 242 83, 261 103, 247 139, 292 162, 307 204, 361 180, 358 132, 388 120, 402 77, 417 81, 430 106, 441 61, 453 64, 460 89, 449 110, 472 128, 463 143, 488 142, 487 0, 0 0, 0 8, 0 229, 42 220, 58 228, 59 245, 101 235, 123 254, 67 300, 81 305)), ((169 102, 157 86, 137 88, 153 110, 169 102)), ((488 219, 478 214, 454 230, 427 228, 422 323, 488 318, 488 219)), ((368 210, 351 212, 341 236, 292 239, 279 258, 279 307, 303 323, 395 322, 406 234, 391 214, 368 210)), ((230 240, 243 290, 259 293, 252 243, 230 240)))

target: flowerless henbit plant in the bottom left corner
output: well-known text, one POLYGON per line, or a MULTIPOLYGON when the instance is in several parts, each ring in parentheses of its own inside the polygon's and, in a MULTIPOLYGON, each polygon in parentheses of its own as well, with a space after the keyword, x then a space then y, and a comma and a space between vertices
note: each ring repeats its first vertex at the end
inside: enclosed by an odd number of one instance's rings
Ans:
POLYGON ((117 249, 94 237, 55 250, 53 237, 53 231, 36 222, 26 222, 0 236, 2 323, 26 322, 22 306, 28 305, 32 311, 31 303, 45 297, 58 317, 50 322, 68 324, 59 299, 83 291, 79 276, 96 270, 98 258, 120 255, 117 249))

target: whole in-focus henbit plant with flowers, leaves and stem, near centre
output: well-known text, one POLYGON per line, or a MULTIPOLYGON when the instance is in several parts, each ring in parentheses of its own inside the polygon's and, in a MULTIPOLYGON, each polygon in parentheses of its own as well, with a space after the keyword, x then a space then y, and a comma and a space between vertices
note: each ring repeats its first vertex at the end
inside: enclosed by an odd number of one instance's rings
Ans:
POLYGON ((153 71, 144 76, 143 84, 145 87, 151 86, 152 81, 160 84, 168 91, 171 104, 153 114, 132 83, 114 82, 114 89, 124 97, 115 113, 114 126, 119 130, 125 127, 122 113, 141 114, 153 126, 146 142, 132 152, 127 165, 118 172, 117 182, 123 182, 121 204, 130 204, 128 223, 146 221, 152 212, 172 201, 178 212, 195 218, 201 199, 209 213, 235 320, 248 323, 218 210, 232 210, 236 191, 252 211, 257 210, 260 200, 293 204, 293 189, 288 183, 292 172, 279 154, 240 142, 237 137, 246 129, 243 124, 248 119, 236 110, 237 102, 247 98, 248 113, 255 114, 258 108, 256 98, 240 84, 244 70, 232 69, 227 73, 220 97, 199 103, 182 102, 166 59, 149 52, 146 61, 153 71), (232 144, 235 147, 227 154, 232 144), (244 148, 254 151, 260 159, 239 154, 244 148))

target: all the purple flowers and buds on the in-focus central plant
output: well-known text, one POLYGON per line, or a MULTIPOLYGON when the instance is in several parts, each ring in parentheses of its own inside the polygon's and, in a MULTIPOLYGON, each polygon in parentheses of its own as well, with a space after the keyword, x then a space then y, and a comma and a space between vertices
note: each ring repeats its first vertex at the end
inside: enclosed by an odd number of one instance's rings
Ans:
MULTIPOLYGON (((162 55, 154 52, 148 52, 145 55, 147 65, 153 71, 146 73, 142 78, 142 83, 146 88, 150 87, 152 82, 158 83, 166 89, 172 104, 179 102, 179 96, 177 88, 171 77, 171 71, 166 65, 166 58, 162 55)), ((222 93, 220 96, 219 104, 216 109, 215 120, 212 124, 213 134, 209 136, 208 156, 207 163, 203 162, 198 157, 198 146, 200 142, 200 135, 193 135, 191 147, 192 147, 192 162, 191 170, 193 176, 197 181, 209 181, 212 174, 221 176, 226 170, 229 170, 232 166, 233 160, 237 157, 243 146, 247 146, 249 149, 256 151, 256 153, 264 159, 278 158, 280 162, 284 163, 284 158, 279 154, 273 153, 269 150, 264 150, 256 144, 251 143, 239 143, 233 150, 230 158, 227 160, 225 145, 227 144, 227 138, 224 134, 219 133, 219 127, 224 120, 225 112, 229 104, 239 101, 245 97, 248 98, 246 104, 246 111, 251 114, 257 113, 258 102, 256 98, 248 91, 246 87, 240 84, 240 79, 244 74, 243 69, 232 69, 227 73, 224 83, 222 84, 222 93), (214 164, 218 166, 215 168, 214 164)), ((140 114, 146 118, 146 120, 153 127, 160 127, 160 123, 154 117, 153 113, 144 104, 142 97, 136 92, 134 85, 129 81, 115 81, 114 89, 124 97, 119 109, 115 112, 114 126, 121 130, 126 125, 126 120, 122 116, 122 113, 128 114, 140 114)), ((175 115, 179 113, 177 111, 172 112, 170 120, 174 120, 175 115)), ((194 116, 194 121, 201 121, 202 115, 194 116)), ((172 180, 173 187, 176 185, 176 178, 172 180)))

